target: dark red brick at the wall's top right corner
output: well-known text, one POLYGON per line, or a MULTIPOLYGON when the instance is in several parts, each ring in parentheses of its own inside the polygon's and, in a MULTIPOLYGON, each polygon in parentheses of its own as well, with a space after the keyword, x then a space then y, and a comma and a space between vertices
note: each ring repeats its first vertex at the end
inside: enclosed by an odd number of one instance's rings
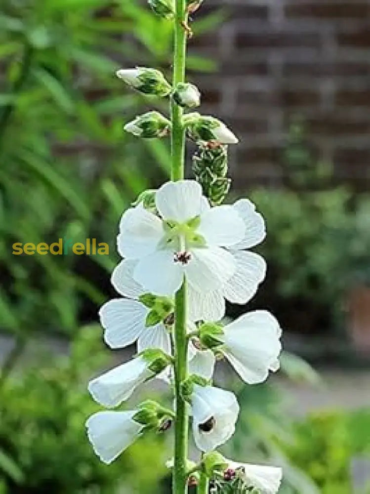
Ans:
POLYGON ((322 19, 362 19, 370 13, 370 6, 365 1, 288 3, 285 7, 287 17, 314 17, 322 19))

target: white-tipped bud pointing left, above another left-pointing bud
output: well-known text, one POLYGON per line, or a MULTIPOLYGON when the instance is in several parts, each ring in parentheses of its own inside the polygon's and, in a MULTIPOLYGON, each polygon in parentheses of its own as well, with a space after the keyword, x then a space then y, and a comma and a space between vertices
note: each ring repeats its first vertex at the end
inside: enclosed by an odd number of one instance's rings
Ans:
POLYGON ((156 69, 148 69, 146 67, 120 69, 116 72, 116 75, 126 84, 144 94, 152 94, 162 98, 167 96, 172 89, 162 72, 156 69))

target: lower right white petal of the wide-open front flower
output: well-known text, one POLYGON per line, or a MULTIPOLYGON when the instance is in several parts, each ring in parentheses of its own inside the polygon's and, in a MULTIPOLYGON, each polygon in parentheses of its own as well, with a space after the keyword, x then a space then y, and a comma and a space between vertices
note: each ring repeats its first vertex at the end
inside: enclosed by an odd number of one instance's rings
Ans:
POLYGON ((236 263, 221 247, 194 248, 184 269, 192 288, 206 292, 221 288, 235 273, 236 263))

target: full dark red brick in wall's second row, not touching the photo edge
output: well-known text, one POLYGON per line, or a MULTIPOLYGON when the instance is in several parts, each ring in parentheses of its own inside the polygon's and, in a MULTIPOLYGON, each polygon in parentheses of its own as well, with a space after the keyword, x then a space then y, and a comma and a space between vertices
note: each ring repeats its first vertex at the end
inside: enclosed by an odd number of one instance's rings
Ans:
POLYGON ((321 47, 321 39, 317 33, 239 33, 236 37, 236 45, 239 49, 247 48, 297 48, 297 47, 321 47))

